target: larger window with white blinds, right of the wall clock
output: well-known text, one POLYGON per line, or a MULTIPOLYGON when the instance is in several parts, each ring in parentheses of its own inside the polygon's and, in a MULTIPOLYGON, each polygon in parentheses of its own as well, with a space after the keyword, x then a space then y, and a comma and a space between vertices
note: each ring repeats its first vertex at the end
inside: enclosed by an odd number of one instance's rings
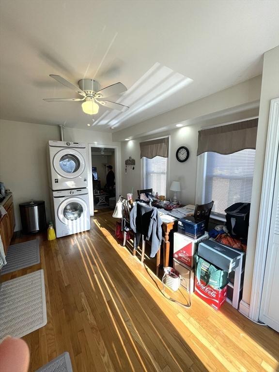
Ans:
POLYGON ((212 200, 212 214, 225 217, 233 203, 250 202, 252 193, 255 150, 246 149, 230 155, 204 154, 203 202, 212 200))

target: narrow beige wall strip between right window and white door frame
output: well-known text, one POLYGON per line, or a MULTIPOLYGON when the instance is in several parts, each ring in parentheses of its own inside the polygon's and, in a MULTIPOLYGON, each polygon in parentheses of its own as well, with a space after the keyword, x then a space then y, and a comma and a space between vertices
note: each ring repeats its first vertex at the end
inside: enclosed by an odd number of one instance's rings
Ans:
POLYGON ((279 47, 264 53, 263 78, 260 100, 259 124, 253 178, 247 257, 243 288, 243 301, 250 303, 254 271, 254 257, 258 232, 259 210, 263 183, 263 165, 268 128, 270 100, 279 97, 279 47))

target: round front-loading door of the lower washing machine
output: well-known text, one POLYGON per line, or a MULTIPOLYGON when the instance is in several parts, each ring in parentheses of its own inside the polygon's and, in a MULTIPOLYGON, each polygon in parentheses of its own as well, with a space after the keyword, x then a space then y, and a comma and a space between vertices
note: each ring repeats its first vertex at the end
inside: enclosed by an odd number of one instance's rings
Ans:
POLYGON ((87 215, 87 213, 86 202, 77 197, 65 199, 57 208, 57 216, 65 225, 84 223, 84 214, 87 215))

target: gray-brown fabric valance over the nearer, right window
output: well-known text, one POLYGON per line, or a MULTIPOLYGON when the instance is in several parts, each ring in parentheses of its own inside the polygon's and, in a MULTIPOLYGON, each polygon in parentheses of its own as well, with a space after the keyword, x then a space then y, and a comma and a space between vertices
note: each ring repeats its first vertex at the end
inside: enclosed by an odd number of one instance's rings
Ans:
POLYGON ((258 119, 245 120, 199 131, 197 155, 211 151, 228 155, 244 149, 255 149, 258 119))

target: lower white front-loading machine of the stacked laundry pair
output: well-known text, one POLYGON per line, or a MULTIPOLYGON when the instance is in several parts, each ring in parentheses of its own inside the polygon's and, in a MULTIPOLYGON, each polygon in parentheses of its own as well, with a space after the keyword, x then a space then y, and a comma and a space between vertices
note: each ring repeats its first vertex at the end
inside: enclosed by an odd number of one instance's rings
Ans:
POLYGON ((51 191, 56 236, 90 230, 87 188, 51 191))

